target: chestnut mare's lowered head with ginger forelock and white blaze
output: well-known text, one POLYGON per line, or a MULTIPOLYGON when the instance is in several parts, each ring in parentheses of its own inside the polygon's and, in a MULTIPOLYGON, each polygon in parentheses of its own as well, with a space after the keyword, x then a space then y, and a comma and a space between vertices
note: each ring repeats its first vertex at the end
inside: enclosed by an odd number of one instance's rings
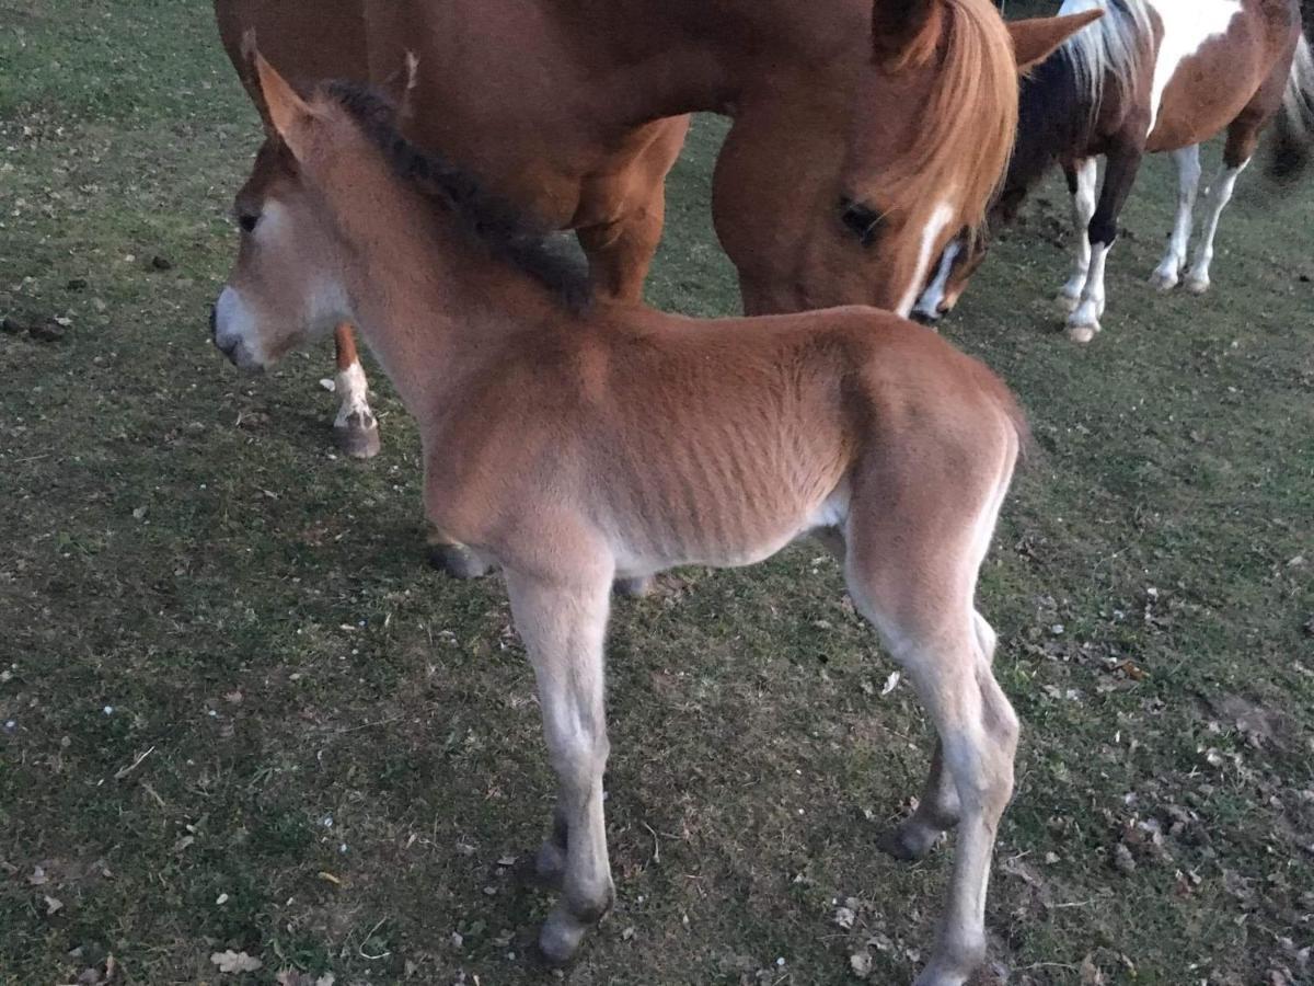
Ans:
POLYGON ((989 0, 872 0, 842 92, 744 105, 716 166, 716 229, 745 309, 908 314, 978 227, 1017 126, 1018 72, 1097 12, 1005 24, 989 0))

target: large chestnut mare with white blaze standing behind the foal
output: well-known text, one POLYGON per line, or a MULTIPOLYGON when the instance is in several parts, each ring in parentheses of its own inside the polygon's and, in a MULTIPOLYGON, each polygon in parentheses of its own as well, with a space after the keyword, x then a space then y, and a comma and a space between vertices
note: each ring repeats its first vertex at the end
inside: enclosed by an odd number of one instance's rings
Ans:
MULTIPOLYGON (((950 235, 975 226, 1013 139, 1017 67, 1091 16, 1018 21, 991 0, 215 0, 302 92, 386 83, 414 49, 405 131, 499 196, 573 229, 599 289, 637 300, 687 118, 735 117, 714 210, 749 314, 872 304, 907 314, 950 235), (1014 62, 1016 50, 1016 62, 1014 62), (442 108, 442 112, 438 110, 442 108)), ((350 451, 378 447, 338 331, 350 451)))

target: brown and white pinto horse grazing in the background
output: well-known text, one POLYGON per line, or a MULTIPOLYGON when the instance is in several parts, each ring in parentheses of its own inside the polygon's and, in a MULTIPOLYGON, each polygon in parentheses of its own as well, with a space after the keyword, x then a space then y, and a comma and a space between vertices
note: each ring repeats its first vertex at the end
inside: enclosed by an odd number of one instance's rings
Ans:
MULTIPOLYGON (((1059 300, 1068 335, 1089 342, 1104 314, 1105 263, 1118 214, 1146 154, 1172 151, 1180 176, 1177 221, 1152 283, 1176 287, 1187 263, 1200 189, 1200 143, 1227 131, 1223 167, 1206 192, 1206 217, 1187 289, 1208 291, 1218 220, 1260 131, 1284 109, 1293 122, 1314 93, 1314 63, 1296 0, 1066 0, 1063 12, 1099 7, 1080 32, 1022 83, 1017 147, 992 218, 1009 221, 1055 162, 1072 192, 1076 264, 1059 300), (1108 167, 1096 204, 1096 156, 1108 167)), ((984 258, 984 243, 950 245, 917 305, 936 318, 953 308, 984 258)))

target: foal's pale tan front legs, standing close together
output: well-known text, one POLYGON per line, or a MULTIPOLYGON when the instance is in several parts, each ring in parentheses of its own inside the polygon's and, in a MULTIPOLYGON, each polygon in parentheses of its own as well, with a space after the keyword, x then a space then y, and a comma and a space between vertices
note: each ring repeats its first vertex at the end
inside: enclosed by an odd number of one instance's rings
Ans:
MULTIPOLYGON (((566 553, 566 552, 562 552, 566 553)), ((562 559, 549 576, 507 572, 511 613, 533 663, 543 727, 558 790, 540 877, 561 899, 539 935, 549 962, 566 962, 615 898, 607 861, 602 776, 607 766, 603 638, 612 568, 600 555, 562 559)))

